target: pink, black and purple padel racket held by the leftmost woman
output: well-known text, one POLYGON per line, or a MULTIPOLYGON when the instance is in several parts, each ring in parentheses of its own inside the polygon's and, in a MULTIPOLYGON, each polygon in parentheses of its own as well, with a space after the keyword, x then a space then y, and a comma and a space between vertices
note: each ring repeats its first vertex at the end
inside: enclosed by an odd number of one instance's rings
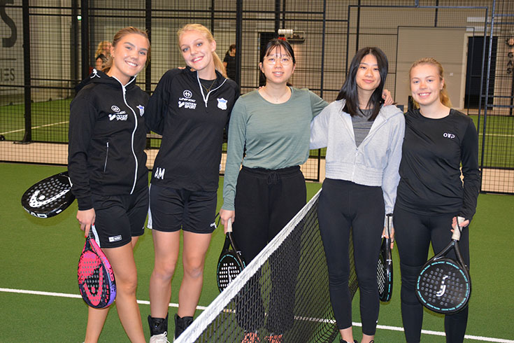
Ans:
POLYGON ((116 297, 116 281, 113 269, 94 240, 93 228, 86 238, 78 260, 78 289, 86 304, 102 309, 113 303, 116 297))

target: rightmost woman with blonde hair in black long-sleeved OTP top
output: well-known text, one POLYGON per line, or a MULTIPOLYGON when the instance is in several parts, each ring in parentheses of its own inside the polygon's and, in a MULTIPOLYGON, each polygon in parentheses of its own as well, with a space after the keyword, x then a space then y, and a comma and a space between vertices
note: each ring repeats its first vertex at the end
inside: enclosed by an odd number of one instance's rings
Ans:
MULTIPOLYGON (((427 261, 429 245, 441 251, 452 237, 456 217, 469 225, 480 190, 478 135, 473 120, 451 108, 443 66, 422 58, 409 71, 417 109, 406 113, 394 228, 400 255, 401 316, 408 343, 420 342, 423 307, 415 283, 427 261), (462 175, 461 181, 461 165, 462 175)), ((469 230, 459 241, 469 265, 469 230)), ((453 256, 455 258, 455 255, 453 256)), ((468 307, 445 316, 446 342, 464 340, 468 307)))

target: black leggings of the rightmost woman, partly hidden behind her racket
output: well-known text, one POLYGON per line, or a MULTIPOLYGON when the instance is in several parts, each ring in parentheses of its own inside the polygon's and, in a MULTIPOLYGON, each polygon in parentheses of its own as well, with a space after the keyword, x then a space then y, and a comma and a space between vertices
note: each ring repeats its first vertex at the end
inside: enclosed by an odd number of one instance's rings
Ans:
MULTIPOLYGON (((408 343, 420 342, 423 323, 423 307, 415 294, 417 276, 427 262, 430 242, 434 253, 450 243, 452 218, 455 216, 457 214, 422 215, 398 206, 394 208, 394 237, 398 243, 401 269, 401 318, 408 343)), ((462 230, 459 248, 464 262, 469 266, 468 228, 462 230)), ((455 258, 455 253, 448 253, 448 257, 455 258)), ((445 315, 446 342, 463 342, 467 321, 467 306, 457 314, 445 315)))

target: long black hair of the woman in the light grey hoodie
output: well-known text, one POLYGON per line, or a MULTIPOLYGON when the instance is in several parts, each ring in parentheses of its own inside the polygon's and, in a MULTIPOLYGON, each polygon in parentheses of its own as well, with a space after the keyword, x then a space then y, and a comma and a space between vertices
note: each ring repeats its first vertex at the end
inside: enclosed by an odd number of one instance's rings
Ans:
POLYGON ((336 100, 345 99, 346 104, 343 108, 343 111, 350 113, 350 116, 357 116, 357 113, 359 113, 359 96, 357 94, 357 81, 355 78, 357 76, 359 65, 366 55, 373 55, 376 57, 378 72, 380 73, 380 84, 373 92, 373 94, 371 94, 367 104, 369 108, 373 108, 373 113, 371 113, 369 120, 375 120, 376 116, 378 116, 378 112, 380 111, 380 106, 383 103, 382 92, 385 85, 385 78, 387 77, 387 69, 389 68, 387 57, 385 56, 385 53, 379 48, 366 47, 357 51, 352 59, 352 63, 350 63, 348 76, 346 77, 345 83, 343 83, 341 92, 339 92, 337 95, 336 100))

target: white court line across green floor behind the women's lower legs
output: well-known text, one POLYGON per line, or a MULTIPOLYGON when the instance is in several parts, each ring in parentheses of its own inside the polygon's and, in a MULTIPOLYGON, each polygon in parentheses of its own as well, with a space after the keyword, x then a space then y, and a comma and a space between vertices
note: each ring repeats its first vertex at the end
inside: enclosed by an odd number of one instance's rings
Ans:
MULTIPOLYGON (((13 288, 0 288, 0 292, 7 292, 7 293, 22 293, 22 294, 31 294, 31 295, 48 295, 52 297, 74 297, 78 299, 82 299, 82 296, 79 294, 67 294, 67 293, 53 293, 53 292, 43 292, 40 290, 23 290, 23 289, 13 289, 13 288)), ((150 302, 148 300, 138 300, 138 304, 145 304, 149 305, 150 302)), ((175 304, 173 302, 169 303, 169 307, 177 307, 178 304, 175 304)), ((205 306, 197 306, 197 309, 201 309, 202 311, 205 310, 207 307, 205 306)), ((362 323, 352 323, 354 326, 362 326, 362 323)), ((389 325, 377 325, 378 329, 382 330, 390 330, 390 331, 404 331, 404 328, 399 328, 398 326, 389 326, 389 325)), ((440 331, 431 331, 431 330, 421 330, 421 333, 424 333, 425 335, 434 335, 434 336, 444 336, 444 332, 440 331)), ((466 335, 464 336, 466 339, 474 339, 476 341, 482 341, 482 342, 497 342, 497 343, 514 343, 514 340, 512 339, 502 339, 502 338, 491 338, 491 337, 482 337, 482 336, 473 336, 473 335, 466 335)))

